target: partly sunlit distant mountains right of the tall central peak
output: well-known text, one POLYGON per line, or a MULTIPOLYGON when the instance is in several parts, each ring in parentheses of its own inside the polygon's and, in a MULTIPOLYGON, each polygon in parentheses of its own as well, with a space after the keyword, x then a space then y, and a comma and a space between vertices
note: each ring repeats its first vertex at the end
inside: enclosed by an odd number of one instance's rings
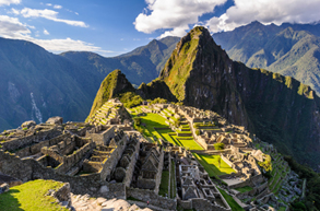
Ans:
POLYGON ((293 77, 320 93, 320 24, 252 22, 213 35, 232 59, 293 77))

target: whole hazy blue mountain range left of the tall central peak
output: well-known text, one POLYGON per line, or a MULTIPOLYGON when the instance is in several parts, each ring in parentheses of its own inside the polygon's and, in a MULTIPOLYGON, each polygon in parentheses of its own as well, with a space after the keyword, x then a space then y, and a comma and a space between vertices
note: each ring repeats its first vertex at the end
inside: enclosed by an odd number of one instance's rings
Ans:
POLYGON ((51 116, 83 121, 108 73, 121 69, 133 84, 150 82, 178 40, 154 39, 129 54, 105 58, 94 52, 54 55, 29 42, 0 38, 0 130, 51 116))

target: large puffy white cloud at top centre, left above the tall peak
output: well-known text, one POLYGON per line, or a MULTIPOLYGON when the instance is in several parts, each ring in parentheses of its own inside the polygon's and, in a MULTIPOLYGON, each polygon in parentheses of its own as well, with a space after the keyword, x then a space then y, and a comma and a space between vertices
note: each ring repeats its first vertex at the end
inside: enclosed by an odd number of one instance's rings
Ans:
POLYGON ((226 0, 145 0, 147 8, 145 13, 140 13, 135 22, 139 32, 152 33, 156 30, 170 30, 162 37, 183 36, 189 24, 197 24, 199 16, 213 12, 216 5, 226 0), (150 12, 150 14, 147 14, 150 12))

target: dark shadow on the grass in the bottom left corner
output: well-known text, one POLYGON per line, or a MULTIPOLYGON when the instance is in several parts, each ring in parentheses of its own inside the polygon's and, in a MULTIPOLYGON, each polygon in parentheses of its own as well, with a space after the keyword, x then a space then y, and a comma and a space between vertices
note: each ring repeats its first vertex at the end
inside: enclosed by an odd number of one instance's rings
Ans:
POLYGON ((0 210, 2 211, 23 211, 21 203, 13 196, 13 194, 20 192, 19 190, 11 189, 8 192, 0 195, 0 210))

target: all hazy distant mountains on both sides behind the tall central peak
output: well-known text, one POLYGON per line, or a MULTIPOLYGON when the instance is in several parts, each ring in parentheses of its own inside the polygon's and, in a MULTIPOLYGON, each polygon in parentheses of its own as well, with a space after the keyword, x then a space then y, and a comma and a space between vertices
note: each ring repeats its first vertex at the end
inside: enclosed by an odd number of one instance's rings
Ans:
MULTIPOLYGON (((320 93, 319 35, 320 24, 252 22, 213 38, 232 59, 292 75, 320 93)), ((1 38, 0 130, 56 115, 67 121, 84 120, 108 73, 120 69, 135 87, 149 83, 159 75, 179 39, 154 39, 131 52, 105 58, 85 51, 54 55, 29 42, 1 38)), ((163 87, 158 82, 142 87, 156 86, 163 87)))

